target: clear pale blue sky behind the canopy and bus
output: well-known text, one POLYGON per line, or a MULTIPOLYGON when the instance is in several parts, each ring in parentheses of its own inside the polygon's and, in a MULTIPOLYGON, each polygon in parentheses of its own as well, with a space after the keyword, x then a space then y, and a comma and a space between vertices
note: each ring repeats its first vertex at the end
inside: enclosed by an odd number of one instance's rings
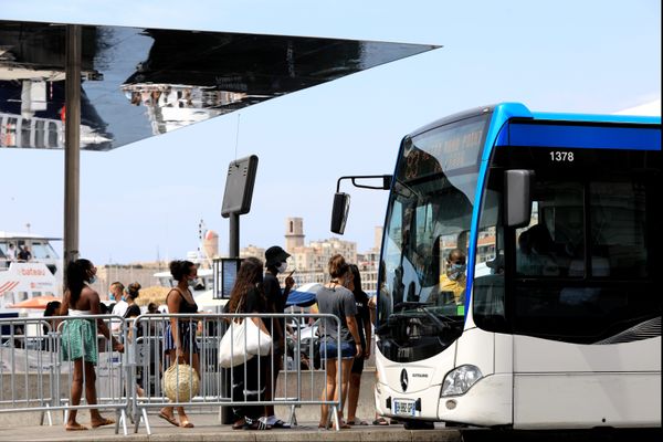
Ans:
MULTIPOLYGON (((81 154, 80 251, 95 264, 182 259, 199 223, 219 233, 225 172, 260 158, 240 246, 335 236, 336 181, 391 173, 402 137, 456 112, 520 102, 609 114, 661 99, 659 0, 0 0, 0 19, 316 35, 441 49, 151 137, 81 154)), ((62 236, 64 152, 0 149, 0 230, 62 236)), ((343 239, 373 246, 388 192, 351 196, 343 239)), ((56 244, 57 245, 57 244, 56 244)), ((61 249, 60 249, 61 250, 61 249)))

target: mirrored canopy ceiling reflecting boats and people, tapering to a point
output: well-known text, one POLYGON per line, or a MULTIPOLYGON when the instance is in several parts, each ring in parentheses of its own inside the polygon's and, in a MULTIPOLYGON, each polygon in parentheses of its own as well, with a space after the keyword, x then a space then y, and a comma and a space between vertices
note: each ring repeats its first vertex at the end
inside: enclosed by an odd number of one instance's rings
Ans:
MULTIPOLYGON (((83 25, 81 148, 109 150, 439 48, 83 25)), ((0 20, 0 147, 64 148, 65 24, 0 20)))

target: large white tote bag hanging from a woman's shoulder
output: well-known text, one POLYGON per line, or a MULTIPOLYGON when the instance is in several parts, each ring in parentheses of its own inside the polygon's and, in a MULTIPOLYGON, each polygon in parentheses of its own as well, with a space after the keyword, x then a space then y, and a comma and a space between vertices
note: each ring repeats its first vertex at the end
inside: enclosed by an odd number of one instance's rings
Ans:
POLYGON ((219 365, 230 368, 254 356, 266 356, 272 349, 272 337, 251 318, 238 324, 232 322, 219 345, 219 365))

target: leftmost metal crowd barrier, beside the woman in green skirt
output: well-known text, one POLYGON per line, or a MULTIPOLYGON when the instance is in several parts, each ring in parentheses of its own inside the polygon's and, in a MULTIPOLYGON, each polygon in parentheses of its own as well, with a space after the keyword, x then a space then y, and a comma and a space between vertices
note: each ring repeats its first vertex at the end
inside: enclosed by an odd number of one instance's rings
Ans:
MULTIPOLYGON (((62 410, 66 421, 71 410, 114 410, 115 433, 119 424, 127 434, 126 417, 129 404, 125 387, 127 372, 125 362, 118 352, 110 348, 110 343, 98 334, 97 319, 104 320, 108 327, 120 322, 119 339, 126 340, 124 319, 113 315, 95 316, 51 316, 19 317, 0 319, 0 413, 41 412, 40 424, 44 415, 49 424, 53 424, 51 412, 62 410), (62 327, 74 319, 90 319, 97 337, 96 396, 97 403, 85 401, 85 370, 83 375, 83 392, 81 403, 72 406, 72 381, 74 362, 63 359, 62 327), (57 327, 55 325, 59 324, 57 327)), ((81 350, 84 351, 83 341, 81 350)))

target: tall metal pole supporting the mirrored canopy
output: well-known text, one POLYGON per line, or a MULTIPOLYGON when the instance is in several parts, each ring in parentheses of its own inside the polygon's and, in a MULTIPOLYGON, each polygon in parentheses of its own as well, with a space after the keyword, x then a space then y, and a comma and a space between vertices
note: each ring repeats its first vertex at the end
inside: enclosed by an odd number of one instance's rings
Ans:
POLYGON ((78 257, 81 25, 66 25, 64 107, 64 262, 78 257))

